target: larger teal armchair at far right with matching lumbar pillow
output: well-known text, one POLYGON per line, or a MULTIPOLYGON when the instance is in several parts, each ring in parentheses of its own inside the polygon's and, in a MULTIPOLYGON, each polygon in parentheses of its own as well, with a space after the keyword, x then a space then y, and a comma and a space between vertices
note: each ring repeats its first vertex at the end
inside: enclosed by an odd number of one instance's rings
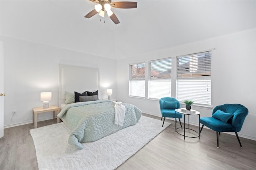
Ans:
POLYGON ((220 132, 235 132, 240 147, 242 148, 237 132, 242 129, 244 119, 248 115, 248 109, 241 104, 224 104, 214 107, 212 117, 201 117, 202 128, 206 125, 216 131, 217 148, 219 148, 220 132))

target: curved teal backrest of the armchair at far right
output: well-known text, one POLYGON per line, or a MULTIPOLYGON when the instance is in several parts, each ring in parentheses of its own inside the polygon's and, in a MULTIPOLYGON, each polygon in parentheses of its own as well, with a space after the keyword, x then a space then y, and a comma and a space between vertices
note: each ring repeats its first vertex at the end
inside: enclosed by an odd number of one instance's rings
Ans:
POLYGON ((241 104, 224 104, 214 107, 212 115, 217 111, 221 110, 226 113, 234 114, 231 123, 236 127, 236 132, 242 129, 245 117, 248 115, 248 109, 241 104))

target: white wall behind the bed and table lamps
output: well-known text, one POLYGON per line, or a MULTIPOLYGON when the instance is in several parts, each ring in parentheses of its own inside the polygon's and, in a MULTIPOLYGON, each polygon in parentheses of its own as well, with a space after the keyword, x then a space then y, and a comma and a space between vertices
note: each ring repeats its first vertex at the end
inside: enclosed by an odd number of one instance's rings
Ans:
MULTIPOLYGON (((107 88, 113 89, 112 98, 116 98, 116 60, 4 36, 1 41, 6 93, 4 127, 32 123, 32 108, 42 106, 40 92, 52 92, 50 105, 58 106, 59 63, 99 68, 99 98, 107 98, 107 88), (12 117, 13 110, 17 115, 12 117)), ((51 118, 52 112, 38 115, 39 121, 51 118)))

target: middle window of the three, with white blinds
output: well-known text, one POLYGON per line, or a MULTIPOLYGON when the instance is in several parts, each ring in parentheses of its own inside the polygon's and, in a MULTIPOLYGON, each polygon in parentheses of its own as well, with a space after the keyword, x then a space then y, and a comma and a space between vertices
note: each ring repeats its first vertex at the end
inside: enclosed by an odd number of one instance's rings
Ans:
POLYGON ((172 59, 149 62, 148 98, 171 97, 172 59))

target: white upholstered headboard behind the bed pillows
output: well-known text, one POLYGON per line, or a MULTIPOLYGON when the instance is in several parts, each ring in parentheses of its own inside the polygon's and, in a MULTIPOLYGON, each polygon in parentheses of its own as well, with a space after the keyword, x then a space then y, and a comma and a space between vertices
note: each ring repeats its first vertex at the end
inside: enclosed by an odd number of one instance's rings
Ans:
POLYGON ((100 91, 98 68, 59 64, 59 106, 65 102, 65 92, 100 91))

